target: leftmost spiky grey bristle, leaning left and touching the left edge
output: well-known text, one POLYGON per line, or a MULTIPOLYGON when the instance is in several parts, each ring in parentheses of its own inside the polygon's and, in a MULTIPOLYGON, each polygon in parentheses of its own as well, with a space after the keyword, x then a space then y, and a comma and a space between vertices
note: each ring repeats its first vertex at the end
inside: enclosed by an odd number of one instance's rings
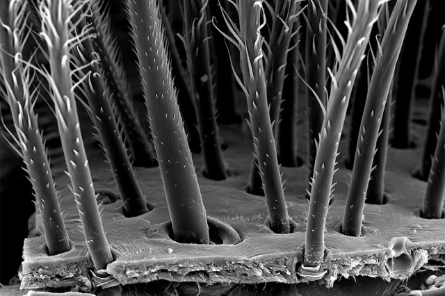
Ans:
POLYGON ((35 192, 35 202, 42 215, 44 238, 49 255, 70 250, 68 234, 63 222, 58 194, 49 167, 38 119, 33 110, 37 93, 30 93, 32 77, 30 66, 23 65, 20 57, 26 42, 23 22, 26 18, 26 3, 13 0, 0 4, 0 76, 5 93, 1 93, 10 106, 15 124, 13 137, 26 164, 26 171, 35 192), (19 28, 21 26, 22 28, 19 28))

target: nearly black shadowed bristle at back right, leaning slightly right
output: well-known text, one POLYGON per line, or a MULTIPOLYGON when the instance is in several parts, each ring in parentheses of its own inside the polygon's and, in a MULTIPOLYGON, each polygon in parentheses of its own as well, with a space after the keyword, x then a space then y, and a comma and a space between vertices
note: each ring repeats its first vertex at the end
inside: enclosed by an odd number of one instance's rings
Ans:
POLYGON ((419 73, 419 62, 429 6, 429 0, 421 1, 416 6, 399 62, 396 104, 394 106, 394 131, 392 132, 391 140, 391 146, 398 149, 407 149, 411 145, 411 119, 415 100, 414 89, 419 73))

